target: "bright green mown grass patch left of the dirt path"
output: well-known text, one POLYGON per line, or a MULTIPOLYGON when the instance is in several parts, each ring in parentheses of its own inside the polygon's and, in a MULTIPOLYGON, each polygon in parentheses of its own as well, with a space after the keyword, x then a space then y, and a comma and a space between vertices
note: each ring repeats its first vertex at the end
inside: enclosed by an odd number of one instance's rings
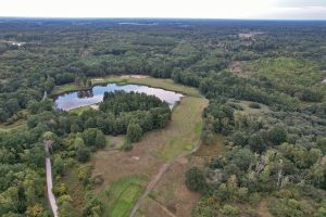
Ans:
POLYGON ((101 192, 99 197, 104 204, 103 216, 128 216, 130 209, 136 204, 138 197, 145 191, 146 182, 146 177, 126 177, 117 180, 116 182, 111 184, 105 191, 101 192))

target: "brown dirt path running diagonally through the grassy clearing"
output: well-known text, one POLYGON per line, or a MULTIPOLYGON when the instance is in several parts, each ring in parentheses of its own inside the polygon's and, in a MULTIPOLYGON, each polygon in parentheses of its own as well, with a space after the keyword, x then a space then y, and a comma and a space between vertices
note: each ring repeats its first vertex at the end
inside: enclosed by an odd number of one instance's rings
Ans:
MULTIPOLYGON (((136 213, 138 210, 138 208, 140 207, 140 205, 142 204, 142 202, 145 201, 145 199, 148 196, 148 194, 153 190, 153 188, 156 186, 156 183, 161 180, 162 176, 167 171, 167 169, 179 158, 186 157, 188 155, 193 154, 195 152, 197 152, 197 150, 200 148, 200 140, 197 141, 196 146, 188 153, 185 153, 178 157, 176 157, 173 162, 171 163, 165 163, 161 166, 159 173, 156 174, 156 176, 150 181, 150 183, 148 184, 146 191, 143 192, 143 194, 139 197, 139 200, 137 201, 136 205, 134 206, 129 217, 135 217, 136 213)), ((163 205, 161 205, 163 206, 163 205)), ((163 206, 164 207, 164 206, 163 206)), ((164 207, 165 208, 165 207, 164 207)))

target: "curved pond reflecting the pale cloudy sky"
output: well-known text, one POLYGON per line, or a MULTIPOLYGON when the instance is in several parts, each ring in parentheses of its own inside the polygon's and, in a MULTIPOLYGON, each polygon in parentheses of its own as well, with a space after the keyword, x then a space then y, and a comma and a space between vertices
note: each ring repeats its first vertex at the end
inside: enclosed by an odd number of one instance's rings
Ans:
POLYGON ((103 100, 104 92, 113 92, 115 90, 143 92, 146 94, 156 95, 161 100, 166 101, 170 108, 184 97, 177 92, 148 86, 108 84, 104 86, 95 86, 89 90, 72 91, 60 94, 54 99, 55 105, 58 108, 70 111, 76 107, 96 104, 103 100))

